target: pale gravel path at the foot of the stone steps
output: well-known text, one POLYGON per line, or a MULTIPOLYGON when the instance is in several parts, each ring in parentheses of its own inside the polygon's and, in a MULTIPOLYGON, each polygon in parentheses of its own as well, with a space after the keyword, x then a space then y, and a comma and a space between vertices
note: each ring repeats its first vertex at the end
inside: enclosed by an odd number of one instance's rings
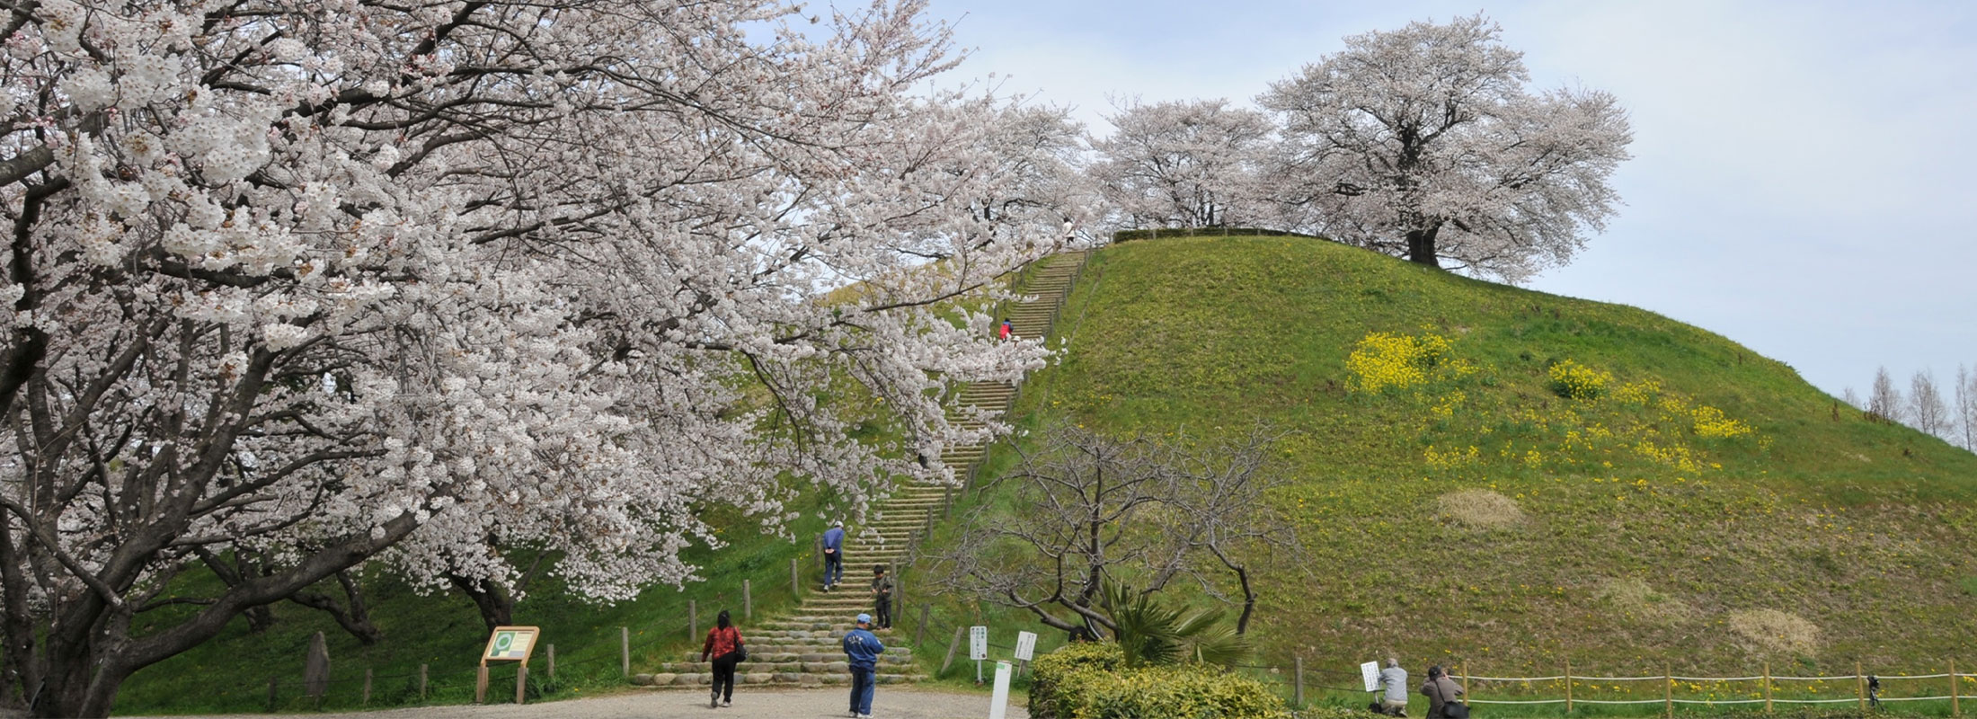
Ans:
MULTIPOLYGON (((745 689, 745 687, 743 687, 745 689)), ((850 689, 745 689, 735 691, 735 705, 708 709, 702 691, 627 691, 595 699, 546 701, 516 707, 494 703, 484 707, 415 707, 362 713, 308 713, 308 719, 826 719, 848 717, 850 689)), ((1010 697, 1008 719, 1028 719, 1024 697, 1010 697)), ((223 715, 176 719, 251 719, 295 715, 223 715)), ((874 719, 985 719, 987 693, 949 693, 913 687, 878 687, 872 699, 874 719)))

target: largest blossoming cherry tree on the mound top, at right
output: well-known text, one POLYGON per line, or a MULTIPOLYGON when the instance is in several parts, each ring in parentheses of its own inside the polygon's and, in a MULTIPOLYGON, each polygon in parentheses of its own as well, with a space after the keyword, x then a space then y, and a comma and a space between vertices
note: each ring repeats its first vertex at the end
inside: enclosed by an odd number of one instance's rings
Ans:
POLYGON ((1603 91, 1530 91, 1495 22, 1414 22, 1271 85, 1287 223, 1508 280, 1605 227, 1631 130, 1603 91))

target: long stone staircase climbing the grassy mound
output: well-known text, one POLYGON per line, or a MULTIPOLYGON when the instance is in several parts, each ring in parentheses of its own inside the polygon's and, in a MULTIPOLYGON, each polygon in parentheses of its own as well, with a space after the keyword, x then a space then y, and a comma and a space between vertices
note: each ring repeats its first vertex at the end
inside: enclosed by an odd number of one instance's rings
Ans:
MULTIPOLYGON (((1030 267, 1022 292, 1030 302, 1010 302, 1006 316, 1010 330, 1018 338, 1042 338, 1050 334, 1064 298, 1083 271, 1085 253, 1050 255, 1030 267)), ((963 385, 949 407, 947 417, 963 427, 981 427, 963 407, 979 407, 988 413, 1008 411, 1016 401, 1016 387, 1006 383, 963 385)), ((965 482, 975 480, 987 446, 951 446, 941 452, 941 460, 953 466, 965 482)), ((840 642, 852 628, 858 612, 872 612, 872 565, 900 567, 907 561, 909 549, 919 535, 937 521, 953 502, 953 488, 927 482, 907 482, 894 488, 894 494, 878 504, 874 521, 862 527, 846 527, 844 537, 844 579, 824 593, 813 585, 803 602, 781 618, 743 626, 749 660, 735 666, 739 685, 844 685, 850 681, 850 668, 844 664, 840 642), (866 531, 872 529, 872 531, 866 531)), ((894 573, 898 577, 898 573, 894 573)), ((813 577, 820 581, 822 577, 813 577)), ((902 583, 903 585, 903 583, 902 583)), ((894 591, 894 626, 911 626, 905 616, 903 593, 909 585, 894 591)), ((913 662, 909 634, 900 630, 880 630, 886 654, 880 656, 878 683, 903 683, 925 679, 913 662)), ((639 674, 633 683, 660 689, 692 689, 712 683, 712 666, 698 662, 700 652, 686 652, 680 662, 664 662, 650 674, 639 674)))

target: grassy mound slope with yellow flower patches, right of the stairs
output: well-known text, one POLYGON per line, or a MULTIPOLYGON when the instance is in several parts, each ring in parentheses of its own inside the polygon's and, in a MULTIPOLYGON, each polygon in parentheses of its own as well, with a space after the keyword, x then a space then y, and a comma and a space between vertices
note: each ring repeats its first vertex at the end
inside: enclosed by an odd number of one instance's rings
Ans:
POLYGON ((1653 312, 1224 237, 1097 253, 1058 334, 1030 427, 1287 433, 1271 656, 1892 674, 1977 636, 1977 456, 1653 312))

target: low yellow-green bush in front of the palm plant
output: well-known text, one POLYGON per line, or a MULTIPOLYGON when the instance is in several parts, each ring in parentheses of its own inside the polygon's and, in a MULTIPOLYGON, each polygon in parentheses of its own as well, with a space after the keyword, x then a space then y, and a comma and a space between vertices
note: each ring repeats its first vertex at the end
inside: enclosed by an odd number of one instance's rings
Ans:
POLYGON ((1030 683, 1034 719, 1277 719, 1261 681, 1206 664, 1125 668, 1117 644, 1070 644, 1040 656, 1030 683))

